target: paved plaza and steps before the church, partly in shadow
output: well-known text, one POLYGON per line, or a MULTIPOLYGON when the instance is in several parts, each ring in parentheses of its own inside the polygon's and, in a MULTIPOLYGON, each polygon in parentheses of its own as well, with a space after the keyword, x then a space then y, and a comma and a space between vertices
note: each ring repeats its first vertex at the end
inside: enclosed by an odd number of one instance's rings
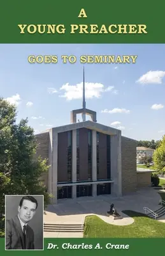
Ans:
MULTIPOLYGON (((162 190, 163 191, 163 190, 162 190)), ((133 218, 126 216, 122 211, 131 210, 145 213, 143 207, 148 207, 152 211, 156 211, 161 207, 159 200, 161 196, 159 190, 154 188, 141 188, 135 193, 115 198, 111 195, 59 200, 57 205, 49 205, 47 214, 44 215, 45 223, 59 224, 82 224, 86 216, 96 215, 107 223, 113 225, 130 225, 134 222, 133 218), (112 220, 106 215, 110 210, 110 204, 114 204, 119 214, 122 215, 122 220, 112 220)), ((163 191, 165 193, 165 191, 163 191)), ((162 218, 165 222, 165 217, 162 218)), ((65 232, 45 232, 45 237, 83 237, 80 233, 65 233, 65 232)))

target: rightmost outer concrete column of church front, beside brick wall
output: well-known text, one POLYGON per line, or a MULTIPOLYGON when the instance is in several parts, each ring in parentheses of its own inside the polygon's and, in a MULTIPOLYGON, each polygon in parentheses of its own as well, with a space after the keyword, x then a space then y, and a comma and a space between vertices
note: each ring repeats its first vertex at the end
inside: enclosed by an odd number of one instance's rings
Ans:
POLYGON ((121 132, 111 136, 111 195, 122 195, 121 132))

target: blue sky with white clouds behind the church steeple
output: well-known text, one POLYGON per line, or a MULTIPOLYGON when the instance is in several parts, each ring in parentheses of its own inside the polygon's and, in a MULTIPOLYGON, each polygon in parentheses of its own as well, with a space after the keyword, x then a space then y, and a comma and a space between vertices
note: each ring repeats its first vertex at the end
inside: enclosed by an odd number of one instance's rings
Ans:
POLYGON ((165 134, 164 53, 161 44, 1 44, 1 96, 17 104, 17 120, 28 117, 35 133, 70 124, 70 111, 82 108, 80 56, 138 55, 135 64, 85 63, 86 106, 97 112, 98 123, 123 136, 159 140, 165 134), (64 54, 75 55, 76 63, 62 63, 64 54), (29 55, 57 55, 59 61, 31 64, 29 55))

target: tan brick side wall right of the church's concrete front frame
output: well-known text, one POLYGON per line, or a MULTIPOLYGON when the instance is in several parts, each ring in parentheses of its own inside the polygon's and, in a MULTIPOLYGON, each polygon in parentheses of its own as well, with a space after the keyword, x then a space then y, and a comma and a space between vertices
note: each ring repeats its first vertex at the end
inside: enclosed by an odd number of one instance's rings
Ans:
POLYGON ((136 141, 122 136, 122 194, 136 191, 136 141))

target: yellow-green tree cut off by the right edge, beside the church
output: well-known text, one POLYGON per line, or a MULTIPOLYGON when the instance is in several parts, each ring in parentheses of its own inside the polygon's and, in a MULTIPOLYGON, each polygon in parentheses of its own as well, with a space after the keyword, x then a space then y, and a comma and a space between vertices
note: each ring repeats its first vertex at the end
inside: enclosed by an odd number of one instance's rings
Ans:
POLYGON ((165 135, 154 152, 154 168, 158 174, 165 174, 165 135))

